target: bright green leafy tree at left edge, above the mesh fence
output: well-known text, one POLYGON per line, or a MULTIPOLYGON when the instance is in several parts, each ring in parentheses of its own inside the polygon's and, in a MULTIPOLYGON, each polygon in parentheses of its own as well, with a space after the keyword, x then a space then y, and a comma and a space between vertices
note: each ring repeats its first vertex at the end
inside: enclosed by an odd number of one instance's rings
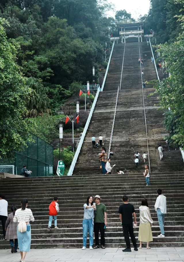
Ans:
POLYGON ((28 139, 28 125, 22 116, 31 90, 16 63, 18 45, 7 39, 4 25, 8 26, 7 21, 0 18, 0 156, 9 158, 28 139))

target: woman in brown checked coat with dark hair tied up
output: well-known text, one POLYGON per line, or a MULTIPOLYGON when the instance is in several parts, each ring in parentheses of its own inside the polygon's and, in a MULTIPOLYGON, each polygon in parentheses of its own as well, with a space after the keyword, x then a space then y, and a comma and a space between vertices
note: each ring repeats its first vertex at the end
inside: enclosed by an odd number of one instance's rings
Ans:
POLYGON ((16 253, 18 247, 18 239, 17 239, 18 223, 13 222, 16 209, 17 209, 16 206, 11 207, 11 213, 8 215, 5 223, 5 230, 6 230, 5 239, 9 240, 9 243, 11 245, 11 253, 16 253), (15 244, 14 244, 14 240, 15 240, 15 244))

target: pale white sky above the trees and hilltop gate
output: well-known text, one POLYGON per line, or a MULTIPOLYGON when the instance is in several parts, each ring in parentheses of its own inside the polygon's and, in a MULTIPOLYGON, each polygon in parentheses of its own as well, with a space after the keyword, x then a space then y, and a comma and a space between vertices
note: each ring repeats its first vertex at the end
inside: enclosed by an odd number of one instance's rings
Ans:
MULTIPOLYGON (((107 0, 108 3, 115 5, 115 12, 117 10, 125 9, 127 13, 131 13, 132 17, 137 20, 140 14, 148 13, 150 8, 150 0, 107 0)), ((162 0, 161 0, 162 1, 162 0)), ((115 12, 109 12, 110 16, 114 17, 115 12)))

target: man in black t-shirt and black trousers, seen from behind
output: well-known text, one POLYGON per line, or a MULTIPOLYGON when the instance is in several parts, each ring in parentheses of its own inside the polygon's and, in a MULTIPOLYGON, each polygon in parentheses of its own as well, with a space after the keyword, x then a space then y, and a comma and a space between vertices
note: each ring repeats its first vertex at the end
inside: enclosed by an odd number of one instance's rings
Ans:
POLYGON ((124 240, 125 240, 126 245, 127 245, 127 247, 122 251, 123 252, 131 252, 129 234, 130 234, 133 246, 134 246, 134 250, 138 251, 136 240, 135 240, 135 235, 133 233, 132 214, 133 214, 133 217, 134 217, 134 224, 137 226, 135 209, 134 209, 134 206, 132 204, 128 203, 128 197, 127 196, 124 195, 122 197, 122 200, 123 200, 123 204, 120 205, 120 207, 119 207, 119 216, 120 216, 121 224, 122 224, 122 227, 123 227, 124 240))

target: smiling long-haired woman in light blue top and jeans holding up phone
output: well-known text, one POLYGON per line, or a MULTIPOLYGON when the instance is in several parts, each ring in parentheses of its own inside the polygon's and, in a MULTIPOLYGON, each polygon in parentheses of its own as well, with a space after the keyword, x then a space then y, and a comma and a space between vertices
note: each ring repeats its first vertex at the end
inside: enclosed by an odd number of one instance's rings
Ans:
POLYGON ((93 196, 89 195, 84 204, 84 219, 83 219, 83 250, 86 249, 87 233, 89 232, 89 249, 93 249, 93 229, 94 229, 94 210, 93 196))

